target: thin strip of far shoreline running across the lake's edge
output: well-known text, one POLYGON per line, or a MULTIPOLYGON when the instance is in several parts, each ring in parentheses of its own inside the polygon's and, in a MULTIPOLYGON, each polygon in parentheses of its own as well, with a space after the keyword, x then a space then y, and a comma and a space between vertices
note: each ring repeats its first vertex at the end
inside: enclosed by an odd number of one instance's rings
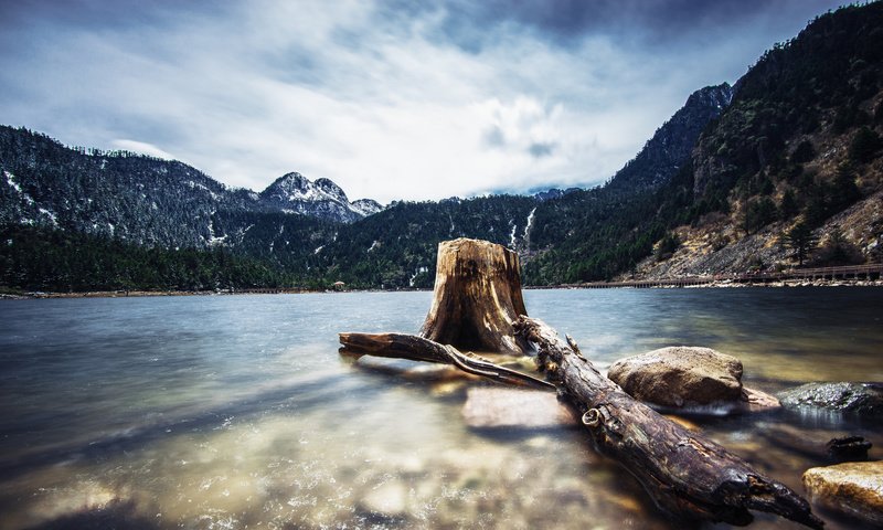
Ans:
MULTIPOLYGON (((778 282, 734 282, 715 280, 693 285, 664 285, 670 279, 638 280, 651 285, 634 285, 635 282, 610 282, 605 284, 563 284, 563 285, 525 285, 524 289, 733 289, 749 287, 795 288, 795 287, 883 287, 883 279, 786 279, 778 282)), ((44 298, 149 298, 167 296, 237 296, 237 295, 309 295, 341 293, 411 293, 426 289, 242 289, 242 290, 89 290, 79 293, 25 292, 0 293, 0 300, 28 300, 44 298)))

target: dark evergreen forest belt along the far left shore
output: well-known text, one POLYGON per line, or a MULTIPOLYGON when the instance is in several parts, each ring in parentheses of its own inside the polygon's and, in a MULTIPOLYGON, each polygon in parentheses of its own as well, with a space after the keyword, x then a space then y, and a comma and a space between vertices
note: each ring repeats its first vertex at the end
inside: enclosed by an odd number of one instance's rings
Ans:
POLYGON ((0 284, 22 292, 325 288, 322 278, 286 273, 225 248, 145 247, 107 236, 22 225, 0 227, 0 284))

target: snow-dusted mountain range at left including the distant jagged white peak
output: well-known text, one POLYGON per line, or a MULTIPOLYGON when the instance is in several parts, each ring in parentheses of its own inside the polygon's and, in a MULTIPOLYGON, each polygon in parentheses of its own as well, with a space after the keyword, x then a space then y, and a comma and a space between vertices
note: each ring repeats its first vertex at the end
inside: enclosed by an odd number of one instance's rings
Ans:
MULTIPOLYGON (((353 222, 382 210, 350 203, 328 179, 298 173, 263 192, 232 189, 179 161, 126 151, 70 149, 25 129, 0 127, 0 224, 118 237, 139 245, 206 247, 232 239, 219 215, 297 213, 353 222)), ((305 221, 306 222, 306 221, 305 221)), ((309 223, 308 223, 309 224, 309 223)))

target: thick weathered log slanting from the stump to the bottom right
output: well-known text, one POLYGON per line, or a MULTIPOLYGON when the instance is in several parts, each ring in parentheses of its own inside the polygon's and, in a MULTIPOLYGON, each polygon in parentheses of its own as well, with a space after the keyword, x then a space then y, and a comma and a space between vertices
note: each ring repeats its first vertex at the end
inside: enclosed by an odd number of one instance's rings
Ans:
POLYGON ((682 519, 747 524, 753 509, 810 528, 825 526, 787 486, 626 394, 570 338, 565 342, 542 321, 526 317, 517 328, 539 347, 538 365, 583 414, 596 448, 628 469, 662 510, 682 519))

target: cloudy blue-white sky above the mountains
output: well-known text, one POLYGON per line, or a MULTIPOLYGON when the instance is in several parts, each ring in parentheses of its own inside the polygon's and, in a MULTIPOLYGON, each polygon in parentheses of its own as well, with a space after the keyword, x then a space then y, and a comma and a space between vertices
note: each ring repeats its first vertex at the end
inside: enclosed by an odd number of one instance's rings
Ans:
POLYGON ((0 0, 0 124, 351 200, 604 182, 825 0, 0 0))

